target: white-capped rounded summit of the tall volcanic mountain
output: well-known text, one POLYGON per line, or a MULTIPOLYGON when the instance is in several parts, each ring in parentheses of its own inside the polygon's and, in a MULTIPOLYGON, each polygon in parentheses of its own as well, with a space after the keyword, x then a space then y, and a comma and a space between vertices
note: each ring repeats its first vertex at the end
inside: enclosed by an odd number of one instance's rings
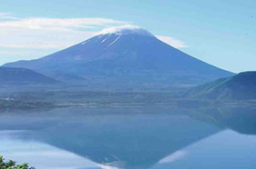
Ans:
POLYGON ((103 29, 97 35, 107 35, 107 34, 116 34, 116 35, 129 35, 129 34, 136 34, 136 35, 146 35, 146 36, 154 36, 149 33, 146 29, 143 29, 137 25, 120 25, 120 26, 113 26, 103 29))

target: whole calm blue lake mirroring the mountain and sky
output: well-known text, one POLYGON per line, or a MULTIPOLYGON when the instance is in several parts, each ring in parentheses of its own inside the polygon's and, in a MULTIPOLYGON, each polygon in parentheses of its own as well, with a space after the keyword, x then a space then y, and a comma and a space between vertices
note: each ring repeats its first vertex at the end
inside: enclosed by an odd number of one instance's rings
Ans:
POLYGON ((1 114, 0 154, 36 169, 254 169, 253 108, 70 107, 1 114))

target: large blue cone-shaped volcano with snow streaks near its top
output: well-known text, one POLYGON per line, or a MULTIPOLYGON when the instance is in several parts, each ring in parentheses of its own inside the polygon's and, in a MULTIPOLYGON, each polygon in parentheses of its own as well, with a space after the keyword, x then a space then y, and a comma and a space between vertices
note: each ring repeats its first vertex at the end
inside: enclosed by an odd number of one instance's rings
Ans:
POLYGON ((105 29, 40 59, 4 66, 28 68, 60 81, 80 83, 203 84, 234 75, 131 25, 105 29))

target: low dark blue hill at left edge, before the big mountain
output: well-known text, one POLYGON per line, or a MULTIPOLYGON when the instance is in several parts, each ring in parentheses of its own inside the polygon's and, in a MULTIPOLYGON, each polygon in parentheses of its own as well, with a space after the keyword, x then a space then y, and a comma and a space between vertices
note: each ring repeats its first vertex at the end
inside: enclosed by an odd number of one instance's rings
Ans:
POLYGON ((0 67, 0 84, 55 84, 56 80, 26 68, 0 67))

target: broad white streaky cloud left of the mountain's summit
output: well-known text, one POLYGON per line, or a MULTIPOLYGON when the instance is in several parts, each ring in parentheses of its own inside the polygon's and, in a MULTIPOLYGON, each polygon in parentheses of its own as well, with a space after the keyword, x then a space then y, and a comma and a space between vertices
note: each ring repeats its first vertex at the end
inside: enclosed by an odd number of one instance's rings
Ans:
POLYGON ((62 49, 86 40, 98 29, 126 23, 108 18, 17 18, 0 13, 0 47, 10 54, 12 49, 62 49))

